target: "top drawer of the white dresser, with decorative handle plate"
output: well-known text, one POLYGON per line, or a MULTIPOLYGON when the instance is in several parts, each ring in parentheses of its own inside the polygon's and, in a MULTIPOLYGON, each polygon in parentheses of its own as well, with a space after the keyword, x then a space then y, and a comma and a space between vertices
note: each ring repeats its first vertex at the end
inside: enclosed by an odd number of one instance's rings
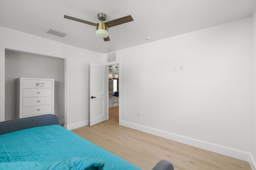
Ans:
POLYGON ((23 88, 52 88, 52 80, 23 80, 23 88))

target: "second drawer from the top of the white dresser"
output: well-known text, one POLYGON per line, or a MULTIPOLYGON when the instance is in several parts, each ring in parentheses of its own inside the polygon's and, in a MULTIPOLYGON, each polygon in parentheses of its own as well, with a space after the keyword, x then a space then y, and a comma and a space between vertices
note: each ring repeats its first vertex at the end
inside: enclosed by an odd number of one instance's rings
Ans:
POLYGON ((51 88, 24 88, 23 98, 52 96, 51 88))

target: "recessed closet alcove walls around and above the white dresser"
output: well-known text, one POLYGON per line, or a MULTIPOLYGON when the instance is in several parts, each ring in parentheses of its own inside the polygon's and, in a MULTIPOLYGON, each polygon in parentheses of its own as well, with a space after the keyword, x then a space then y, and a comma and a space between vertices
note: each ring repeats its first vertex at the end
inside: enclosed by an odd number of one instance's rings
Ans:
POLYGON ((54 78, 54 114, 64 124, 64 59, 5 50, 5 120, 16 119, 16 78, 54 78))

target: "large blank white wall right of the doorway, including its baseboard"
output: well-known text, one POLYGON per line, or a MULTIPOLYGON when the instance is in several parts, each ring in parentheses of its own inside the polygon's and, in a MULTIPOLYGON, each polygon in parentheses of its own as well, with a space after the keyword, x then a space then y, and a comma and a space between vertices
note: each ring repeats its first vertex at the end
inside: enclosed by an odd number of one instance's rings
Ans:
POLYGON ((249 161, 251 28, 245 18, 117 51, 120 124, 249 161))

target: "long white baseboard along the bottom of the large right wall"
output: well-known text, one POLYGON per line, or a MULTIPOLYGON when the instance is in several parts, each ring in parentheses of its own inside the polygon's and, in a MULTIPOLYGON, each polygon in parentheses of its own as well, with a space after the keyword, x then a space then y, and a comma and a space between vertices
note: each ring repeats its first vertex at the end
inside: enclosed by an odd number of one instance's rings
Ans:
POLYGON ((146 133, 150 133, 152 135, 156 135, 156 136, 164 137, 164 138, 167 138, 167 139, 171 139, 173 141, 177 141, 177 142, 184 143, 184 144, 187 144, 187 145, 191 145, 193 147, 198 147, 198 148, 201 148, 201 149, 209 150, 209 151, 212 151, 212 152, 216 152, 216 153, 219 153, 219 154, 223 154, 223 155, 226 155, 226 156, 230 156, 230 157, 233 157, 233 158, 244 160, 244 161, 250 162, 252 170, 256 170, 255 169, 255 167, 256 167, 255 160, 253 159, 252 155, 250 153, 247 153, 247 152, 242 152, 240 150, 235 150, 235 149, 231 149, 231 148, 227 148, 227 147, 222 147, 222 146, 215 145, 215 144, 212 144, 212 143, 199 141, 199 140, 196 140, 196 139, 176 135, 176 134, 173 134, 173 133, 168 133, 168 132, 165 132, 165 131, 160 131, 158 129, 153 129, 153 128, 145 127, 145 126, 142 126, 142 125, 137 125, 137 124, 122 121, 122 120, 120 121, 120 125, 125 126, 125 127, 129 127, 129 128, 132 128, 132 129, 136 129, 136 130, 139 130, 139 131, 143 131, 143 132, 146 132, 146 133))

